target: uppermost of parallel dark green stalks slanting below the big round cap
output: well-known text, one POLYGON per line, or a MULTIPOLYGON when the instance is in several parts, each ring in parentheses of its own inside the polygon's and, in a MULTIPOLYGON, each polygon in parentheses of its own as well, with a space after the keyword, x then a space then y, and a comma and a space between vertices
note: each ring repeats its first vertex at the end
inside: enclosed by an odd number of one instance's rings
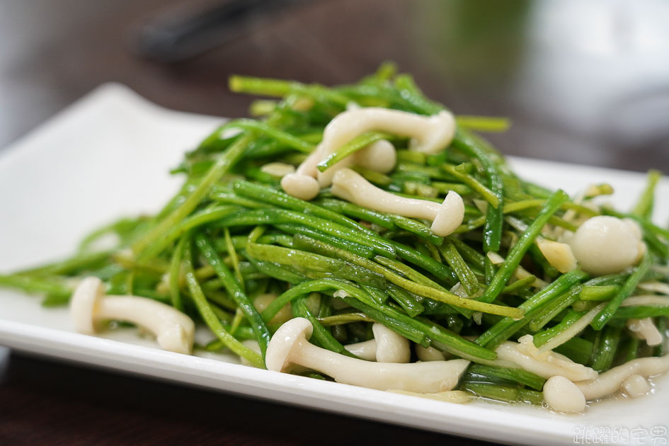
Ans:
POLYGON ((586 273, 579 270, 561 275, 557 280, 518 306, 518 309, 522 309, 525 314, 521 319, 505 317, 476 338, 476 343, 488 348, 496 348, 510 338, 513 333, 528 324, 544 304, 564 295, 571 287, 587 277, 586 273))

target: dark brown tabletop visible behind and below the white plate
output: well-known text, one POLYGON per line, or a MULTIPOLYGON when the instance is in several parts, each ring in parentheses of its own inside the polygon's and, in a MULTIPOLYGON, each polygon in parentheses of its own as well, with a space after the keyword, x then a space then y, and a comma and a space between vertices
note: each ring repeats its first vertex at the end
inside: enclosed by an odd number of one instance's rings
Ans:
MULTIPOLYGON (((106 81, 170 108, 239 116, 249 99, 227 91, 229 74, 334 84, 390 59, 457 113, 512 118, 491 137, 507 154, 669 171, 662 2, 313 0, 185 62, 135 55, 142 24, 206 3, 0 0, 0 147, 106 81)), ((3 445, 370 441, 476 444, 0 353, 3 445)))

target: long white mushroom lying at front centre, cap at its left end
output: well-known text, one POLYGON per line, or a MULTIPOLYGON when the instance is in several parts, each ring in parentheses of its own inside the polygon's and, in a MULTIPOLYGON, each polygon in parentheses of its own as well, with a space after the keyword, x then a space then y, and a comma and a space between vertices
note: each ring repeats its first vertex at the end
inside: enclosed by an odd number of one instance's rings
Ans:
POLYGON ((265 365, 268 370, 286 372, 299 365, 344 384, 379 390, 438 393, 455 387, 469 365, 467 360, 398 364, 349 358, 309 343, 312 331, 311 323, 304 318, 283 324, 267 349, 265 365))

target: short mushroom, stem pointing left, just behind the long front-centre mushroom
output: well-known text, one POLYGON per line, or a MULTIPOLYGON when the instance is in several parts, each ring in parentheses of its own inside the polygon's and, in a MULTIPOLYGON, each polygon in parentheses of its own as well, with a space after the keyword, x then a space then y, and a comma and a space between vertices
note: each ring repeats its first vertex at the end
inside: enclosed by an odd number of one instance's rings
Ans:
POLYGON ((372 324, 374 339, 345 345, 358 358, 377 362, 408 362, 411 359, 409 342, 403 336, 378 322, 372 324))

